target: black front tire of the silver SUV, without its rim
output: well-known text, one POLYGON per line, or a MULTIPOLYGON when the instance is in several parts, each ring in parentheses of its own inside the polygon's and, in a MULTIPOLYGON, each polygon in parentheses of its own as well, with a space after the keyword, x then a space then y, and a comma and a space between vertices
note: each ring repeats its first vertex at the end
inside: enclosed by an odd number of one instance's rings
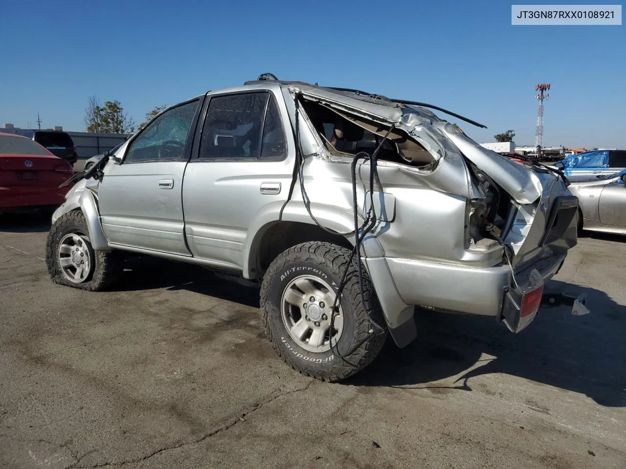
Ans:
POLYGON ((80 210, 61 215, 48 233, 46 242, 46 266, 51 280, 58 285, 72 286, 80 290, 102 291, 110 287, 123 271, 123 258, 118 251, 95 251, 91 247, 89 231, 85 215, 80 210), (91 272, 83 283, 69 281, 64 275, 58 261, 58 245, 63 236, 69 233, 80 235, 86 241, 91 259, 91 272))

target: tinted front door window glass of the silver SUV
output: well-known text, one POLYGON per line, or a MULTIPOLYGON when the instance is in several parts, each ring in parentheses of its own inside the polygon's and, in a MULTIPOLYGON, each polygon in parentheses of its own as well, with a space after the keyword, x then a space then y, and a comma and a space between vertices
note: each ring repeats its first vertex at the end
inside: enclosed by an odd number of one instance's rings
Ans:
POLYGON ((125 163, 182 158, 199 101, 183 104, 150 121, 130 144, 125 163))

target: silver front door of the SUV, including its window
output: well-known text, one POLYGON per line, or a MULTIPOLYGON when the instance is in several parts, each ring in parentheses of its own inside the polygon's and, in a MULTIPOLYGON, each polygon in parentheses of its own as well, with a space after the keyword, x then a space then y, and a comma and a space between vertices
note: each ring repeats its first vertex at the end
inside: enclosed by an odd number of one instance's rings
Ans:
POLYGON ((181 195, 199 102, 170 108, 151 120, 128 144, 121 164, 106 165, 98 203, 111 244, 191 255, 181 195))

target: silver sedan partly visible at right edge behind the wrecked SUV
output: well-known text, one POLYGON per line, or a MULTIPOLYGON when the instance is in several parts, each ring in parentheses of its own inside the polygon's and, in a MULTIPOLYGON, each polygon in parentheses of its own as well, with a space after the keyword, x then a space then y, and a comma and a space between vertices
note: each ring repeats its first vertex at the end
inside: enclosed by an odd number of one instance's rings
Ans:
POLYGON ((569 189, 578 197, 578 228, 626 235, 626 169, 569 189))

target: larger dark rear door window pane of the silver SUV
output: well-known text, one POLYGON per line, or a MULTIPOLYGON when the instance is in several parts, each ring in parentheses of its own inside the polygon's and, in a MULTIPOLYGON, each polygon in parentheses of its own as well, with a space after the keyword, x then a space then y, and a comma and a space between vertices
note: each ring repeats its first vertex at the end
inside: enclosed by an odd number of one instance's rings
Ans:
POLYGON ((200 158, 259 158, 269 93, 213 96, 200 139, 200 158))

